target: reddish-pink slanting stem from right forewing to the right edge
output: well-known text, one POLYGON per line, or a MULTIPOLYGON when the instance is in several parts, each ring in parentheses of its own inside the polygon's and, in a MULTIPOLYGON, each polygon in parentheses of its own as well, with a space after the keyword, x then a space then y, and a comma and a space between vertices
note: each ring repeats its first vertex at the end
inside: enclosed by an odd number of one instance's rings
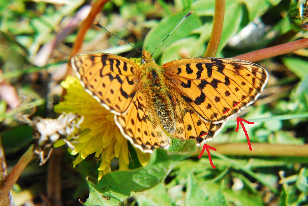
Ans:
POLYGON ((290 52, 294 52, 307 47, 308 47, 308 38, 303 38, 293 42, 280 44, 278 46, 272 46, 269 48, 248 52, 246 54, 238 55, 232 58, 241 59, 249 62, 257 62, 262 59, 268 59, 270 57, 288 54, 290 52))

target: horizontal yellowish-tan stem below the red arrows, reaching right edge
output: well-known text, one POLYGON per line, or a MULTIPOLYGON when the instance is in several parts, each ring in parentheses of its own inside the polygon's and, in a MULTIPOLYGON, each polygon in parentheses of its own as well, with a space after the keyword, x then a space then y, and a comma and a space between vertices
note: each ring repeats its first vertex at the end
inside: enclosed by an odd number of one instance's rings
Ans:
MULTIPOLYGON (((265 156, 265 157, 308 157, 308 144, 287 145, 269 143, 251 143, 252 151, 247 143, 209 143, 223 155, 265 156)), ((197 151, 194 156, 198 156, 197 151)))

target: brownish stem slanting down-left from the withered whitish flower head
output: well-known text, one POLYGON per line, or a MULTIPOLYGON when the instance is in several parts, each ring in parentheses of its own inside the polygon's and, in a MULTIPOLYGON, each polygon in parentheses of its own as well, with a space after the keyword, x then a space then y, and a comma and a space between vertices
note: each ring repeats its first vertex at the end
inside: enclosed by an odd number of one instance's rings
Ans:
POLYGON ((18 177, 32 159, 33 145, 31 145, 28 150, 22 155, 22 157, 18 160, 17 164, 14 166, 10 174, 7 176, 6 180, 4 180, 3 187, 0 191, 0 203, 6 199, 11 188, 16 183, 18 177))

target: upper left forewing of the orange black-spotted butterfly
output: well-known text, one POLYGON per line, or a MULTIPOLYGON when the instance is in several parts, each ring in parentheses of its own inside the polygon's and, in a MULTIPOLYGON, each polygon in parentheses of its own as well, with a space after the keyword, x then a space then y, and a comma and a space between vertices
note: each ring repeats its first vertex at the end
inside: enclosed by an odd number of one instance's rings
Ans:
POLYGON ((81 84, 102 106, 124 114, 140 87, 140 67, 129 59, 107 53, 81 53, 72 57, 81 84))

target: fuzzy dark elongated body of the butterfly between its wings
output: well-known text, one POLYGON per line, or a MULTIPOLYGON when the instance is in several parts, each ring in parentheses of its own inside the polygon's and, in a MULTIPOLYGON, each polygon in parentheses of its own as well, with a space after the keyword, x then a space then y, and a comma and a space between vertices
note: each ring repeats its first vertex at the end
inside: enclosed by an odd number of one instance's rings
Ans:
POLYGON ((175 120, 172 112, 172 105, 168 98, 168 90, 163 81, 163 67, 155 62, 141 65, 144 71, 144 91, 149 94, 149 102, 152 102, 160 123, 165 131, 173 134, 175 132, 175 120))

